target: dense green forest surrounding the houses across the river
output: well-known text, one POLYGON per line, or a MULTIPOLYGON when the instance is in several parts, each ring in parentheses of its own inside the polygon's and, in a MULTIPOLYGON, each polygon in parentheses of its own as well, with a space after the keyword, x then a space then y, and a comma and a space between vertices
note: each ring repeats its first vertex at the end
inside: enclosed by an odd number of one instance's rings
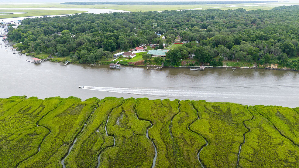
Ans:
POLYGON ((185 10, 127 12, 27 18, 9 40, 26 52, 70 56, 79 62, 109 59, 117 49, 128 51, 143 44, 189 42, 166 55, 164 65, 180 66, 181 59, 194 55, 189 65, 222 66, 222 60, 299 69, 299 7, 272 10, 185 10), (22 43, 21 43, 22 42, 22 43), (199 44, 198 44, 199 43, 199 44), (187 56, 186 56, 187 55, 187 56))

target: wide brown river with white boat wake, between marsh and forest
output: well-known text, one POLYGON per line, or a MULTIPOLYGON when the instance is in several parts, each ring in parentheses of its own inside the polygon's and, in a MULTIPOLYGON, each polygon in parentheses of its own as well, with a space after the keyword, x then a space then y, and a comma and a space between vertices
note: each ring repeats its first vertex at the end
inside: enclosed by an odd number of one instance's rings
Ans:
POLYGON ((147 70, 146 67, 110 69, 103 65, 46 61, 27 62, 30 56, 5 52, 0 40, 0 98, 10 96, 75 96, 82 100, 107 96, 149 99, 191 99, 243 105, 299 106, 299 72, 206 68, 147 70), (78 86, 90 86, 84 89, 78 86))

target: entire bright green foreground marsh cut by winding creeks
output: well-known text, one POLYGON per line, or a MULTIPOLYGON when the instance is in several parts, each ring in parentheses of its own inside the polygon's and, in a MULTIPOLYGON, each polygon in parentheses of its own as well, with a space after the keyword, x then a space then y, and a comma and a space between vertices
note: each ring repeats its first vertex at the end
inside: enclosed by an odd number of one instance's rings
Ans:
POLYGON ((13 96, 0 167, 298 167, 298 122, 298 107, 13 96))

